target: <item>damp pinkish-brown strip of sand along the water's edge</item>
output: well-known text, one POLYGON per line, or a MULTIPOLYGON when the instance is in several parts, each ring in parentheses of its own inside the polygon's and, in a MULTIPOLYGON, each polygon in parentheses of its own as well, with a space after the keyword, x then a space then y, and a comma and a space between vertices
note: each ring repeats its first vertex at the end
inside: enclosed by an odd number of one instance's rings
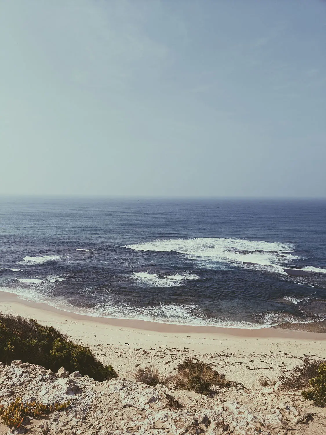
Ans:
MULTIPOLYGON (((285 328, 266 327, 259 329, 249 328, 224 328, 218 326, 192 326, 192 325, 177 325, 172 323, 161 323, 155 321, 139 320, 139 319, 123 319, 123 318, 107 318, 100 316, 91 316, 86 314, 78 314, 64 309, 53 307, 46 302, 29 301, 23 299, 14 292, 0 291, 0 311, 5 312, 5 309, 14 303, 21 305, 25 308, 31 308, 32 312, 35 310, 42 310, 51 314, 57 314, 70 318, 75 321, 91 321, 101 325, 107 325, 114 328, 136 329, 140 331, 151 332, 164 332, 168 334, 182 334, 182 333, 196 333, 196 334, 213 334, 213 335, 227 335, 246 338, 289 338, 289 339, 303 339, 303 340, 326 340, 326 333, 323 332, 310 332, 302 329, 296 329, 293 324, 293 329, 290 329, 290 324, 284 324, 285 328)), ((19 311, 21 311, 19 309, 19 311)), ((27 310, 29 311, 29 310, 27 310)), ((43 316, 42 316, 43 317, 43 316)), ((300 324, 301 325, 301 324, 300 324)))

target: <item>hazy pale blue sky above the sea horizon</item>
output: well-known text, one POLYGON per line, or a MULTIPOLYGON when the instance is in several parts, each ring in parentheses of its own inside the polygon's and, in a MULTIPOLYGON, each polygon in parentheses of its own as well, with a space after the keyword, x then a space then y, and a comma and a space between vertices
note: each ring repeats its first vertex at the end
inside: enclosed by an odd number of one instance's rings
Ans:
POLYGON ((326 196, 326 2, 1 0, 1 194, 326 196))

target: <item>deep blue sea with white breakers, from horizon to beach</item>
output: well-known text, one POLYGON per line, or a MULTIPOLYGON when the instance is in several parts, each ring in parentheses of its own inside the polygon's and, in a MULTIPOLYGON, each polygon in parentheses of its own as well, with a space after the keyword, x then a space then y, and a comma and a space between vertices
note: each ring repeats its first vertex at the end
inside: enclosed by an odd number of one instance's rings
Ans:
POLYGON ((0 247, 1 291, 76 313, 236 328, 326 318, 325 200, 3 197, 0 247))

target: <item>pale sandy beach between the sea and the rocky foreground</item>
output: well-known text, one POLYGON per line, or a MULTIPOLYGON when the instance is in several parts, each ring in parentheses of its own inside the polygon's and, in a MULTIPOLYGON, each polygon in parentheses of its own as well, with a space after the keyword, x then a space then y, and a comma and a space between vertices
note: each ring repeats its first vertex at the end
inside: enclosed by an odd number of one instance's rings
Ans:
POLYGON ((136 367, 154 365, 174 372, 184 358, 196 357, 226 378, 252 385, 258 376, 275 378, 303 355, 326 358, 326 334, 274 328, 259 330, 192 327, 147 321, 98 318, 61 311, 0 292, 0 311, 37 319, 90 347, 120 376, 131 378, 136 367))

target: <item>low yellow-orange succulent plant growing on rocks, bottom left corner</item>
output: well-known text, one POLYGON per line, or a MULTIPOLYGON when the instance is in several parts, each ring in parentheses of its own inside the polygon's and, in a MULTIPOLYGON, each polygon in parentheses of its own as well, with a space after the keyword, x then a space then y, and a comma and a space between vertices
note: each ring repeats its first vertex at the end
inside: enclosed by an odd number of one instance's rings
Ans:
POLYGON ((19 428, 26 418, 39 418, 43 414, 50 414, 54 411, 62 411, 67 408, 71 400, 54 405, 43 405, 40 402, 22 402, 21 397, 17 397, 14 402, 11 402, 6 408, 0 405, 0 418, 7 426, 19 428))

